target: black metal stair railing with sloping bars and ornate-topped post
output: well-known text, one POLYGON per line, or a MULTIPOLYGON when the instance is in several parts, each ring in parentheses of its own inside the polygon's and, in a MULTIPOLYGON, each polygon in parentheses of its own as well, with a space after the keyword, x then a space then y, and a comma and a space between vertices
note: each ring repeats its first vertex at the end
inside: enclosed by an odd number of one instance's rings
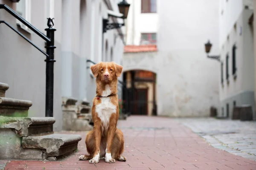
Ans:
POLYGON ((7 6, 6 4, 0 4, 0 9, 4 9, 9 14, 14 16, 17 20, 19 20, 21 23, 23 23, 25 26, 27 26, 29 29, 31 29, 35 34, 38 34, 39 37, 44 39, 46 43, 46 52, 39 48, 37 45, 35 45, 31 40, 29 40, 26 36, 24 36, 20 31, 12 27, 9 23, 6 21, 1 20, 1 23, 6 24, 9 28, 11 28, 13 31, 15 31, 17 34, 19 34, 21 37, 23 37, 27 42, 29 42, 31 45, 33 45, 35 48, 37 48, 41 53, 43 53, 46 56, 46 59, 44 60, 46 62, 46 94, 45 94, 45 116, 46 117, 53 117, 53 78, 54 78, 54 49, 56 48, 54 46, 54 32, 56 31, 55 28, 52 28, 54 26, 53 18, 47 18, 47 26, 48 28, 45 29, 47 31, 47 35, 42 33, 38 28, 35 28, 35 26, 32 26, 29 22, 24 20, 23 17, 21 17, 17 12, 15 12, 12 8, 7 6))

